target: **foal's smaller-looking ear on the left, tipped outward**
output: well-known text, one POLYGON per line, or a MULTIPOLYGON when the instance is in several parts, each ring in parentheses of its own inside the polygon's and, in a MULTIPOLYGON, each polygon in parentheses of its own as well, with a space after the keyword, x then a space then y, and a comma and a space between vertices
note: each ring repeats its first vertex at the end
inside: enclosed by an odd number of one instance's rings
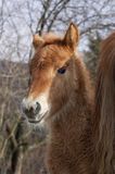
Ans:
POLYGON ((33 36, 33 45, 34 45, 35 49, 37 49, 43 42, 44 42, 44 40, 39 35, 36 34, 33 36))

